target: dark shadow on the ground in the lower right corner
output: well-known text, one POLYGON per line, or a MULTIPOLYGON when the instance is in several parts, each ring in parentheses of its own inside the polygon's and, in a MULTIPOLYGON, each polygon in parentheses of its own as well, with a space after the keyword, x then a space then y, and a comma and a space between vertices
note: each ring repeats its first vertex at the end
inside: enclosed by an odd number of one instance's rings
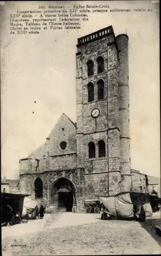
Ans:
POLYGON ((155 241, 161 246, 161 237, 158 236, 158 234, 155 233, 155 226, 161 224, 161 219, 149 219, 145 222, 140 222, 141 226, 145 228, 151 236, 155 239, 155 241))

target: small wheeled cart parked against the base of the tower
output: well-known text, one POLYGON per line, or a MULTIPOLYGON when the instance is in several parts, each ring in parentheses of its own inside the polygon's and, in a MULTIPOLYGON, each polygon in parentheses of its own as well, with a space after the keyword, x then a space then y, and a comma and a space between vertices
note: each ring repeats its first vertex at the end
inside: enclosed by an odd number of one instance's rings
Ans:
POLYGON ((99 214, 101 208, 101 203, 96 199, 85 200, 85 211, 87 214, 94 213, 99 214))

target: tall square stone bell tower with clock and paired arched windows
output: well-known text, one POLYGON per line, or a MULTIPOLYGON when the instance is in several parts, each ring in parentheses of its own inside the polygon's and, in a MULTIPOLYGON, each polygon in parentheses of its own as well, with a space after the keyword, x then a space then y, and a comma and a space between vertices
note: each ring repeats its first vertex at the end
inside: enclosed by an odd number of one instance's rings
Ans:
POLYGON ((77 204, 129 190, 128 37, 112 26, 78 38, 76 119, 77 204))

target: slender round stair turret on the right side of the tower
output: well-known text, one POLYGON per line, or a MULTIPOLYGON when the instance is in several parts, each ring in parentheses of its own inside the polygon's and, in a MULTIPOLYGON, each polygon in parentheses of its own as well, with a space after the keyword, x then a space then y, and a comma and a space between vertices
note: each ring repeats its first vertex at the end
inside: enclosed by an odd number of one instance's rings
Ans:
POLYGON ((118 86, 119 86, 119 127, 120 127, 120 188, 131 190, 130 134, 129 134, 129 77, 128 77, 128 36, 116 37, 118 45, 118 86))

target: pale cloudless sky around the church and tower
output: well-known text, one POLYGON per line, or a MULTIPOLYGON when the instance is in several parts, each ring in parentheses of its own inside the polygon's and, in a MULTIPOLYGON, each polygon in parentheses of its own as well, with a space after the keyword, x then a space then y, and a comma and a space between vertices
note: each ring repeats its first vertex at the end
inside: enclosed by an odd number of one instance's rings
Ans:
POLYGON ((76 122, 77 38, 111 25, 116 36, 127 33, 129 37, 131 168, 160 175, 159 12, 151 2, 157 1, 99 1, 131 12, 91 13, 79 30, 47 30, 39 35, 9 33, 10 13, 37 9, 39 2, 1 6, 2 176, 17 177, 19 159, 45 142, 62 113, 76 122), (134 12, 134 8, 153 11, 134 12))

